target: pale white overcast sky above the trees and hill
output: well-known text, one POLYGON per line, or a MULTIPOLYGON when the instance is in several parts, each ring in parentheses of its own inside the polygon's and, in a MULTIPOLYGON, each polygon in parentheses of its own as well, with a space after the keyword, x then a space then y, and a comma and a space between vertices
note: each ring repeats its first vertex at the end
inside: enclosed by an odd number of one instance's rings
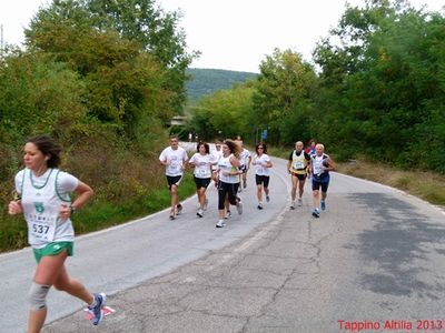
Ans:
MULTIPOLYGON (((23 27, 50 0, 0 0, 3 40, 19 44, 23 27)), ((363 6, 365 0, 349 0, 363 6)), ((258 72, 275 48, 291 49, 310 60, 317 41, 328 36, 346 0, 157 0, 165 10, 179 10, 179 26, 189 50, 201 56, 191 67, 258 72)), ((444 0, 411 0, 416 8, 443 12, 444 0)))

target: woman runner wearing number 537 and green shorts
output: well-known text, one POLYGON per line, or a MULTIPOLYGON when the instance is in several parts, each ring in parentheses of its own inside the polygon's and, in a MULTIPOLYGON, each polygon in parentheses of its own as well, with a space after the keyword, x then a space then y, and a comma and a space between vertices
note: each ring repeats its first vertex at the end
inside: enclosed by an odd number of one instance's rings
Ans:
POLYGON ((67 256, 73 253, 72 214, 93 194, 91 188, 58 169, 61 148, 49 137, 38 135, 27 141, 24 169, 16 175, 17 198, 9 203, 11 215, 23 213, 28 223, 28 242, 37 268, 29 291, 28 333, 40 332, 47 317, 46 297, 53 285, 88 304, 92 324, 103 317, 106 295, 92 294, 78 280, 68 275, 67 256), (77 198, 71 202, 70 193, 77 198))

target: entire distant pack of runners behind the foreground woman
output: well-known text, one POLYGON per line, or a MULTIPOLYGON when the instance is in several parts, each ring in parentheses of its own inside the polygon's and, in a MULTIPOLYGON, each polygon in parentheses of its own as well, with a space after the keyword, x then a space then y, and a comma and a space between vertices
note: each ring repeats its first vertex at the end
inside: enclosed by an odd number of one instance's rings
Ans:
MULTIPOLYGON (((334 162, 324 152, 325 148, 313 139, 306 150, 301 141, 295 143, 295 150, 290 153, 287 161, 287 170, 291 178, 291 204, 303 205, 303 193, 306 179, 312 181, 313 204, 312 214, 314 218, 320 216, 320 211, 326 210, 327 189, 329 185, 329 171, 334 170, 334 162), (298 189, 298 200, 297 200, 298 189), (322 190, 322 191, 320 191, 322 190), (320 195, 322 194, 322 195, 320 195)), ((257 209, 263 210, 264 198, 270 201, 269 180, 273 168, 271 160, 267 154, 267 145, 258 143, 255 147, 255 154, 244 148, 243 140, 226 140, 222 143, 217 141, 215 149, 210 152, 210 147, 206 142, 198 142, 197 152, 188 160, 187 152, 179 147, 177 137, 170 138, 170 147, 166 148, 159 155, 159 161, 166 167, 166 176, 171 194, 170 219, 175 220, 181 212, 181 204, 178 200, 178 186, 182 180, 187 167, 194 169, 194 179, 197 188, 199 208, 197 215, 204 216, 208 200, 206 191, 211 180, 218 189, 218 215, 217 228, 226 225, 225 220, 230 215, 230 204, 236 205, 239 214, 243 213, 241 199, 237 193, 247 186, 247 172, 250 165, 255 168, 255 183, 257 185, 257 209)))

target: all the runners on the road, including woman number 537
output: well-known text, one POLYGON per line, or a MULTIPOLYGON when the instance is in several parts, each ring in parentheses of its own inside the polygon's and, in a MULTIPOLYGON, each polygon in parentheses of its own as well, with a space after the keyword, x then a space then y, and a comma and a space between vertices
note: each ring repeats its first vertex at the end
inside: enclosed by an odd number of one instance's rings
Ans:
MULTIPOLYGON (((28 224, 28 242, 32 248, 37 268, 29 290, 30 313, 28 332, 40 332, 47 316, 47 294, 51 286, 65 291, 88 304, 91 322, 98 325, 103 317, 106 295, 91 293, 78 280, 72 279, 65 262, 73 253, 75 232, 71 216, 93 195, 92 189, 76 176, 58 169, 61 147, 46 135, 29 139, 23 148, 24 169, 16 175, 16 196, 9 203, 11 215, 23 214, 28 224), (76 193, 75 200, 71 193, 76 193)), ((159 155, 166 168, 171 196, 170 219, 181 211, 178 200, 178 186, 188 165, 194 168, 199 208, 197 215, 204 216, 208 200, 206 190, 214 180, 218 189, 218 222, 216 228, 226 225, 230 215, 230 205, 243 214, 243 203, 238 193, 247 186, 247 172, 255 168, 257 185, 257 209, 263 210, 263 198, 270 201, 269 179, 273 168, 267 154, 267 145, 258 143, 255 154, 243 147, 240 138, 216 142, 210 152, 208 143, 199 142, 197 152, 188 160, 187 152, 179 147, 177 137, 170 138, 170 147, 159 155), (264 195, 265 194, 265 195, 264 195)), ((287 169, 291 175, 291 209, 301 205, 306 178, 312 179, 313 215, 319 218, 326 209, 329 184, 329 171, 334 170, 333 160, 325 154, 324 145, 312 142, 305 151, 303 142, 295 144, 287 169), (298 201, 296 190, 298 188, 298 201), (322 198, 319 198, 322 190, 322 198)))

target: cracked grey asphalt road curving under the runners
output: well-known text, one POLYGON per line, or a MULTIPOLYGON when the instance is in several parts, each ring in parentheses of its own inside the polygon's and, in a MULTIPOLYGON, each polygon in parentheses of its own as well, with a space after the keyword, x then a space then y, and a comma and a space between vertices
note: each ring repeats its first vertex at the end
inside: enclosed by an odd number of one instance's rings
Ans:
MULTIPOLYGON (((195 215, 194 196, 175 221, 164 211, 78 238, 70 273, 106 292, 117 310, 95 331, 438 329, 445 321, 444 212, 388 186, 333 173, 327 211, 314 219, 308 184, 304 205, 290 211, 285 161, 273 161, 271 202, 256 209, 250 172, 240 194, 244 214, 234 210, 224 229, 215 228, 211 188, 202 219, 195 215)), ((1 332, 24 330, 32 265, 29 249, 0 256, 1 332)), ((81 305, 51 291, 43 332, 90 332, 81 305)))

